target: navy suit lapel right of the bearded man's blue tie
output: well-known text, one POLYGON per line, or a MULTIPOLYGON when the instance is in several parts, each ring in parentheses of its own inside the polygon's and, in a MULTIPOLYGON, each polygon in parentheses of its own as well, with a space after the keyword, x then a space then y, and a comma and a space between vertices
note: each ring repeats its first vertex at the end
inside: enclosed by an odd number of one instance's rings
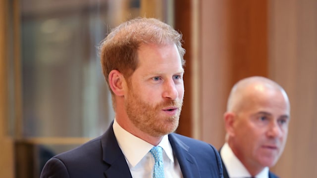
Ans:
POLYGON ((200 178, 196 159, 188 152, 189 147, 178 139, 175 134, 169 134, 168 139, 178 160, 183 177, 200 178))

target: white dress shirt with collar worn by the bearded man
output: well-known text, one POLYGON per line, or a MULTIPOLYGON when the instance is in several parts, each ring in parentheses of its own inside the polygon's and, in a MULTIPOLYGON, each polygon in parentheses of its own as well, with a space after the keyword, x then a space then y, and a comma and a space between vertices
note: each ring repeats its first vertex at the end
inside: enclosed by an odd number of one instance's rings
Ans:
MULTIPOLYGON (((114 119, 113 132, 129 166, 132 178, 152 178, 155 164, 149 152, 154 145, 124 130, 114 119)), ((158 146, 163 148, 165 178, 183 178, 179 163, 173 155, 172 146, 165 135, 158 146)))

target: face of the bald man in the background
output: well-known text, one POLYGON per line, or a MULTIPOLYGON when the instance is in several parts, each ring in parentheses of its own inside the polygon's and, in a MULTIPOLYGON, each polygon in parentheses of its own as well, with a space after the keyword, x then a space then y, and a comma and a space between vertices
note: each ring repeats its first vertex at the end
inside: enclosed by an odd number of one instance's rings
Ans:
POLYGON ((240 106, 233 117, 231 149, 245 166, 274 166, 286 143, 288 99, 278 89, 259 85, 243 93, 240 106))

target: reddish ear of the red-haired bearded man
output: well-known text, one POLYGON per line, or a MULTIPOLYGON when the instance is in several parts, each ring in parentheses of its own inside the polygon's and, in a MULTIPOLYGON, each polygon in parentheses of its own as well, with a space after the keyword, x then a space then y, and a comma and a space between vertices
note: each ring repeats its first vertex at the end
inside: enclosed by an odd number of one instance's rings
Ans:
POLYGON ((118 70, 112 70, 108 76, 109 86, 113 93, 118 96, 124 95, 124 86, 126 85, 123 75, 118 70))

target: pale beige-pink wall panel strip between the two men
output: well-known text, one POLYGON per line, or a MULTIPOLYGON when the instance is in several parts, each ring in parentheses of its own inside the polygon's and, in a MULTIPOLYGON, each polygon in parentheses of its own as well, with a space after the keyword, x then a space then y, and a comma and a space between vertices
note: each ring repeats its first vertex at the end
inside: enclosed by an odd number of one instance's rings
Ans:
POLYGON ((200 11, 200 112, 199 139, 219 148, 224 141, 223 113, 231 71, 227 0, 201 1, 200 11))

